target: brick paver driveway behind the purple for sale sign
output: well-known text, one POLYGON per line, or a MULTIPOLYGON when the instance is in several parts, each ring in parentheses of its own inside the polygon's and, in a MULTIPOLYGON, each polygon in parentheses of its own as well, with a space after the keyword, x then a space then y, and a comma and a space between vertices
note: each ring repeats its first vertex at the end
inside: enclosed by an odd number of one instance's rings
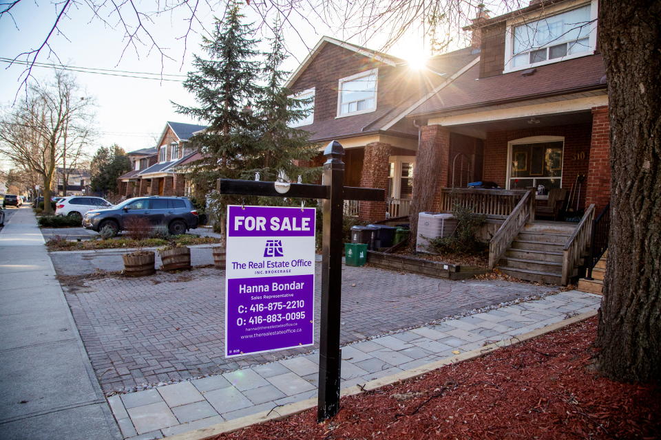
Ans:
MULTIPOLYGON (((225 359, 223 274, 206 268, 101 278, 70 287, 67 301, 104 391, 233 371, 318 347, 225 359)), ((343 343, 556 290, 506 281, 445 281, 369 267, 345 267, 343 278, 343 343)), ((318 311, 319 278, 315 299, 318 311)), ((318 341, 318 312, 315 320, 318 341)))

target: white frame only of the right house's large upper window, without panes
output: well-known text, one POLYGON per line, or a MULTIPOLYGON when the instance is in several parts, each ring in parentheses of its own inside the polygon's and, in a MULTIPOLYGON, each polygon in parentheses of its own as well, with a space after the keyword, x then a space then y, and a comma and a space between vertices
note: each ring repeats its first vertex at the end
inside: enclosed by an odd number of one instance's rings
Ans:
MULTIPOLYGON (((549 6, 544 10, 545 14, 540 15, 538 17, 534 16, 528 16, 528 17, 518 17, 517 19, 512 19, 507 21, 507 29, 505 30, 505 69, 503 70, 503 74, 507 74, 509 72, 518 72, 519 70, 525 70, 525 69, 530 69, 531 67, 537 67, 537 66, 543 66, 547 64, 553 64, 553 63, 559 63, 560 61, 567 61, 571 60, 573 58, 580 58, 582 56, 588 56, 588 55, 593 55, 594 52, 596 51, 597 47, 597 14, 598 14, 598 0, 591 0, 591 1, 576 1, 574 3, 571 3, 569 7, 567 5, 556 5, 556 6, 549 6), (579 52, 578 54, 571 54, 571 55, 565 55, 561 56, 559 58, 553 58, 553 59, 547 59, 545 61, 540 61, 539 63, 527 63, 525 65, 520 65, 520 66, 512 66, 512 60, 514 59, 514 28, 516 28, 518 25, 522 25, 523 23, 534 23, 535 21, 538 20, 543 20, 548 17, 552 17, 554 15, 562 14, 563 12, 569 12, 570 10, 581 8, 585 5, 590 5, 590 20, 592 23, 590 24, 591 30, 588 36, 588 48, 584 52, 579 52)), ((538 47, 534 50, 538 49, 543 49, 543 48, 548 48, 552 47, 554 45, 562 44, 564 41, 560 42, 552 42, 549 43, 548 45, 545 45, 543 47, 538 47)), ((528 52, 522 52, 522 53, 529 53, 532 52, 532 50, 528 52)))

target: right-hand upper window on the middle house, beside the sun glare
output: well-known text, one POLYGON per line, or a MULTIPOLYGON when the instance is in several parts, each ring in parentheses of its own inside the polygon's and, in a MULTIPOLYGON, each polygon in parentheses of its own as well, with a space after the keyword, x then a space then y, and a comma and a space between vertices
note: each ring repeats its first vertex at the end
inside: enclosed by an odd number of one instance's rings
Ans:
POLYGON ((377 109, 378 70, 348 76, 339 80, 337 117, 369 113, 377 109))

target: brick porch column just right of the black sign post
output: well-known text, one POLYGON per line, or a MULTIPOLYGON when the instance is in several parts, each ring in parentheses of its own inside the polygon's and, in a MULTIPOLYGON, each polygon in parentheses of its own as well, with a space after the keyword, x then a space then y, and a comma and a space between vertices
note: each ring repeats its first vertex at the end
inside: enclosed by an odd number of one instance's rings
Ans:
MULTIPOLYGON (((388 157, 392 155, 392 145, 372 142, 365 146, 363 172, 360 186, 388 190, 388 157)), ((386 201, 361 201, 358 218, 364 221, 386 219, 386 201)))

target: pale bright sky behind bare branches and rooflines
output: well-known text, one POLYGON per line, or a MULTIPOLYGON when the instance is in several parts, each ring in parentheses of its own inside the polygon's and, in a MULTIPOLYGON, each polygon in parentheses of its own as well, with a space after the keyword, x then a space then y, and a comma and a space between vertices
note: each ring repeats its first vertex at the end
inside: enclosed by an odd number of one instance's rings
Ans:
MULTIPOLYGON (((149 2, 137 4, 145 5, 149 2)), ((218 4, 215 11, 206 10, 198 14, 207 29, 211 29, 214 14, 222 17, 224 1, 218 4)), ((24 91, 21 91, 21 74, 25 66, 9 67, 8 63, 1 60, 14 58, 21 52, 39 47, 52 26, 56 10, 56 6, 50 1, 23 0, 12 9, 12 17, 0 17, 0 104, 3 106, 0 111, 3 113, 10 109, 14 100, 24 96, 24 91)), ((253 10, 244 7, 243 12, 247 21, 258 21, 253 10)), ((107 15, 107 11, 105 14, 107 15)), ((374 49, 381 48, 386 41, 385 36, 379 35, 368 42, 361 41, 358 37, 348 39, 346 34, 330 28, 315 17, 313 11, 302 11, 301 14, 308 18, 293 17, 292 25, 285 28, 285 41, 292 56, 286 61, 284 69, 290 72, 303 61, 323 35, 347 39, 357 44, 367 43, 368 47, 374 49)), ((107 18, 110 24, 116 22, 116 17, 106 15, 102 16, 107 18)), ((91 10, 84 4, 71 8, 68 16, 61 21, 61 33, 54 33, 50 39, 52 52, 45 48, 38 61, 107 69, 98 71, 104 74, 74 73, 86 96, 96 102, 98 134, 95 142, 88 148, 90 155, 99 146, 115 143, 125 151, 155 146, 168 120, 198 122, 177 114, 171 104, 195 104, 193 97, 182 87, 181 80, 191 69, 191 54, 200 53, 200 32, 204 31, 198 25, 198 33, 189 34, 184 54, 184 44, 180 39, 187 28, 184 18, 182 14, 174 12, 162 14, 156 17, 153 23, 149 23, 154 39, 165 48, 164 51, 172 59, 162 58, 156 50, 149 51, 149 45, 140 46, 137 51, 131 47, 125 50, 123 31, 103 23, 101 19, 93 18, 91 10), (162 77, 167 80, 159 79, 160 73, 168 75, 162 77), (116 76, 118 74, 125 77, 116 76)), ((130 17, 127 16, 127 19, 130 17)), ((410 32, 388 52, 402 58, 406 58, 411 52, 425 52, 426 43, 420 34, 421 32, 416 30, 410 32)), ((54 71, 35 67, 32 74, 36 80, 48 80, 52 78, 54 71)), ((0 166, 7 168, 9 165, 3 159, 0 158, 0 166)))

